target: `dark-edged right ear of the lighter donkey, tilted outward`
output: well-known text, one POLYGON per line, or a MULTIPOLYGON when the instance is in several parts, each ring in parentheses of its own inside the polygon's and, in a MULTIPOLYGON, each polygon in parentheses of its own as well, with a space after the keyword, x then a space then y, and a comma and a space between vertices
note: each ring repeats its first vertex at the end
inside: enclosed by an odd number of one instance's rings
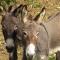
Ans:
POLYGON ((40 24, 44 16, 45 16, 45 6, 42 8, 41 12, 38 13, 33 20, 40 24))

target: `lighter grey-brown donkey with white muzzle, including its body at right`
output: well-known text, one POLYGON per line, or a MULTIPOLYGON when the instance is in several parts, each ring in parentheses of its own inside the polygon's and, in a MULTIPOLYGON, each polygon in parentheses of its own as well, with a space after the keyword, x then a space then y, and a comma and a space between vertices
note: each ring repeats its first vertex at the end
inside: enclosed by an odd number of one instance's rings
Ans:
POLYGON ((23 18, 26 60, 48 60, 49 53, 60 51, 60 12, 50 17, 48 22, 41 21, 44 15, 45 9, 35 18, 29 19, 28 13, 23 18))

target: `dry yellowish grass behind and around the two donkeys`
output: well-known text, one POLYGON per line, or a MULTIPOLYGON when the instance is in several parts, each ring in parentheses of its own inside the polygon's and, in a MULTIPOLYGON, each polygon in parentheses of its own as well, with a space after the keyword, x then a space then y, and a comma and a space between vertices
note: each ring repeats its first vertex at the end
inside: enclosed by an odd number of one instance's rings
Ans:
MULTIPOLYGON (((46 7, 46 15, 44 17, 44 21, 47 21, 47 18, 51 15, 56 14, 60 11, 60 0, 16 0, 17 4, 27 4, 29 13, 32 16, 35 16, 43 6, 46 7)), ((0 23, 2 17, 0 16, 0 23)), ((8 60, 8 53, 5 49, 5 41, 1 30, 0 24, 0 60, 8 60)), ((22 58, 22 48, 18 48, 18 60, 22 58)), ((49 60, 55 60, 55 55, 52 54, 49 56, 49 60)))

